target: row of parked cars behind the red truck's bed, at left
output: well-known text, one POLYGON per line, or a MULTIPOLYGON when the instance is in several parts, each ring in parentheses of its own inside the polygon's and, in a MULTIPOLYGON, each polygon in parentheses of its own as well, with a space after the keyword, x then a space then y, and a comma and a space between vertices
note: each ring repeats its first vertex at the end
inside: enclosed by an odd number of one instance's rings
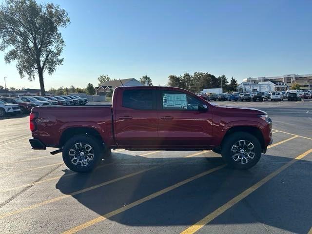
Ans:
POLYGON ((35 106, 85 105, 87 98, 76 95, 0 97, 0 117, 30 113, 35 106))

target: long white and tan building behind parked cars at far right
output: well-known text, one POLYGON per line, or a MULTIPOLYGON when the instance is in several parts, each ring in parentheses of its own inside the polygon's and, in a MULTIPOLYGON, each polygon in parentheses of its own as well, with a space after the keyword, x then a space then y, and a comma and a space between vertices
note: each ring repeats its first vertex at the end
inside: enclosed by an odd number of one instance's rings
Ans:
MULTIPOLYGON (((288 74, 280 77, 258 77, 258 78, 245 78, 243 83, 249 84, 263 84, 262 82, 271 81, 275 84, 274 90, 283 90, 283 87, 280 85, 287 85, 288 87, 292 86, 294 82, 301 85, 300 89, 311 89, 312 88, 312 74, 306 75, 296 75, 296 74, 288 74)), ((244 86, 241 83, 239 86, 244 86)), ((271 84, 272 85, 272 84, 271 84)), ((268 86, 269 88, 269 86, 268 86)), ((273 88, 273 86, 271 86, 273 88)), ((273 90, 270 90, 273 91, 273 90)))

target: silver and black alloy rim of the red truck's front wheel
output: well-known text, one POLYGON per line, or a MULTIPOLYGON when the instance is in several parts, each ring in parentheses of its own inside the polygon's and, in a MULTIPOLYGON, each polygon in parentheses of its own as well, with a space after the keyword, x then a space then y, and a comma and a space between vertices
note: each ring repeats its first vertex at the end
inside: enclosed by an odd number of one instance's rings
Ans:
POLYGON ((248 140, 239 140, 232 146, 232 158, 235 162, 246 164, 254 159, 254 144, 248 140))

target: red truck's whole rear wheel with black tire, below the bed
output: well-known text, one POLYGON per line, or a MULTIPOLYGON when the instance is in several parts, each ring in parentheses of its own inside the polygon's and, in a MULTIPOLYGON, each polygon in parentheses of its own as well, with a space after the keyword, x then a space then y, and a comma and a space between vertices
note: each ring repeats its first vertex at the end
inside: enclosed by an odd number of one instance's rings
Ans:
POLYGON ((101 153, 101 144, 95 137, 77 135, 64 145, 63 161, 74 172, 91 172, 100 162, 101 153))

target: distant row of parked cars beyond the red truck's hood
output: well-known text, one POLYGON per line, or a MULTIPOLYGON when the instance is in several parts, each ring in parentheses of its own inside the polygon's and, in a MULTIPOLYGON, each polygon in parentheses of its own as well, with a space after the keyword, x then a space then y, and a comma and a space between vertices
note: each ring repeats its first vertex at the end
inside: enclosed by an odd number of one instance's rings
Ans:
POLYGON ((312 92, 310 90, 288 90, 284 91, 273 91, 269 93, 265 92, 234 92, 232 94, 197 94, 199 97, 208 101, 282 101, 287 98, 288 101, 300 101, 302 99, 311 99, 312 92))

